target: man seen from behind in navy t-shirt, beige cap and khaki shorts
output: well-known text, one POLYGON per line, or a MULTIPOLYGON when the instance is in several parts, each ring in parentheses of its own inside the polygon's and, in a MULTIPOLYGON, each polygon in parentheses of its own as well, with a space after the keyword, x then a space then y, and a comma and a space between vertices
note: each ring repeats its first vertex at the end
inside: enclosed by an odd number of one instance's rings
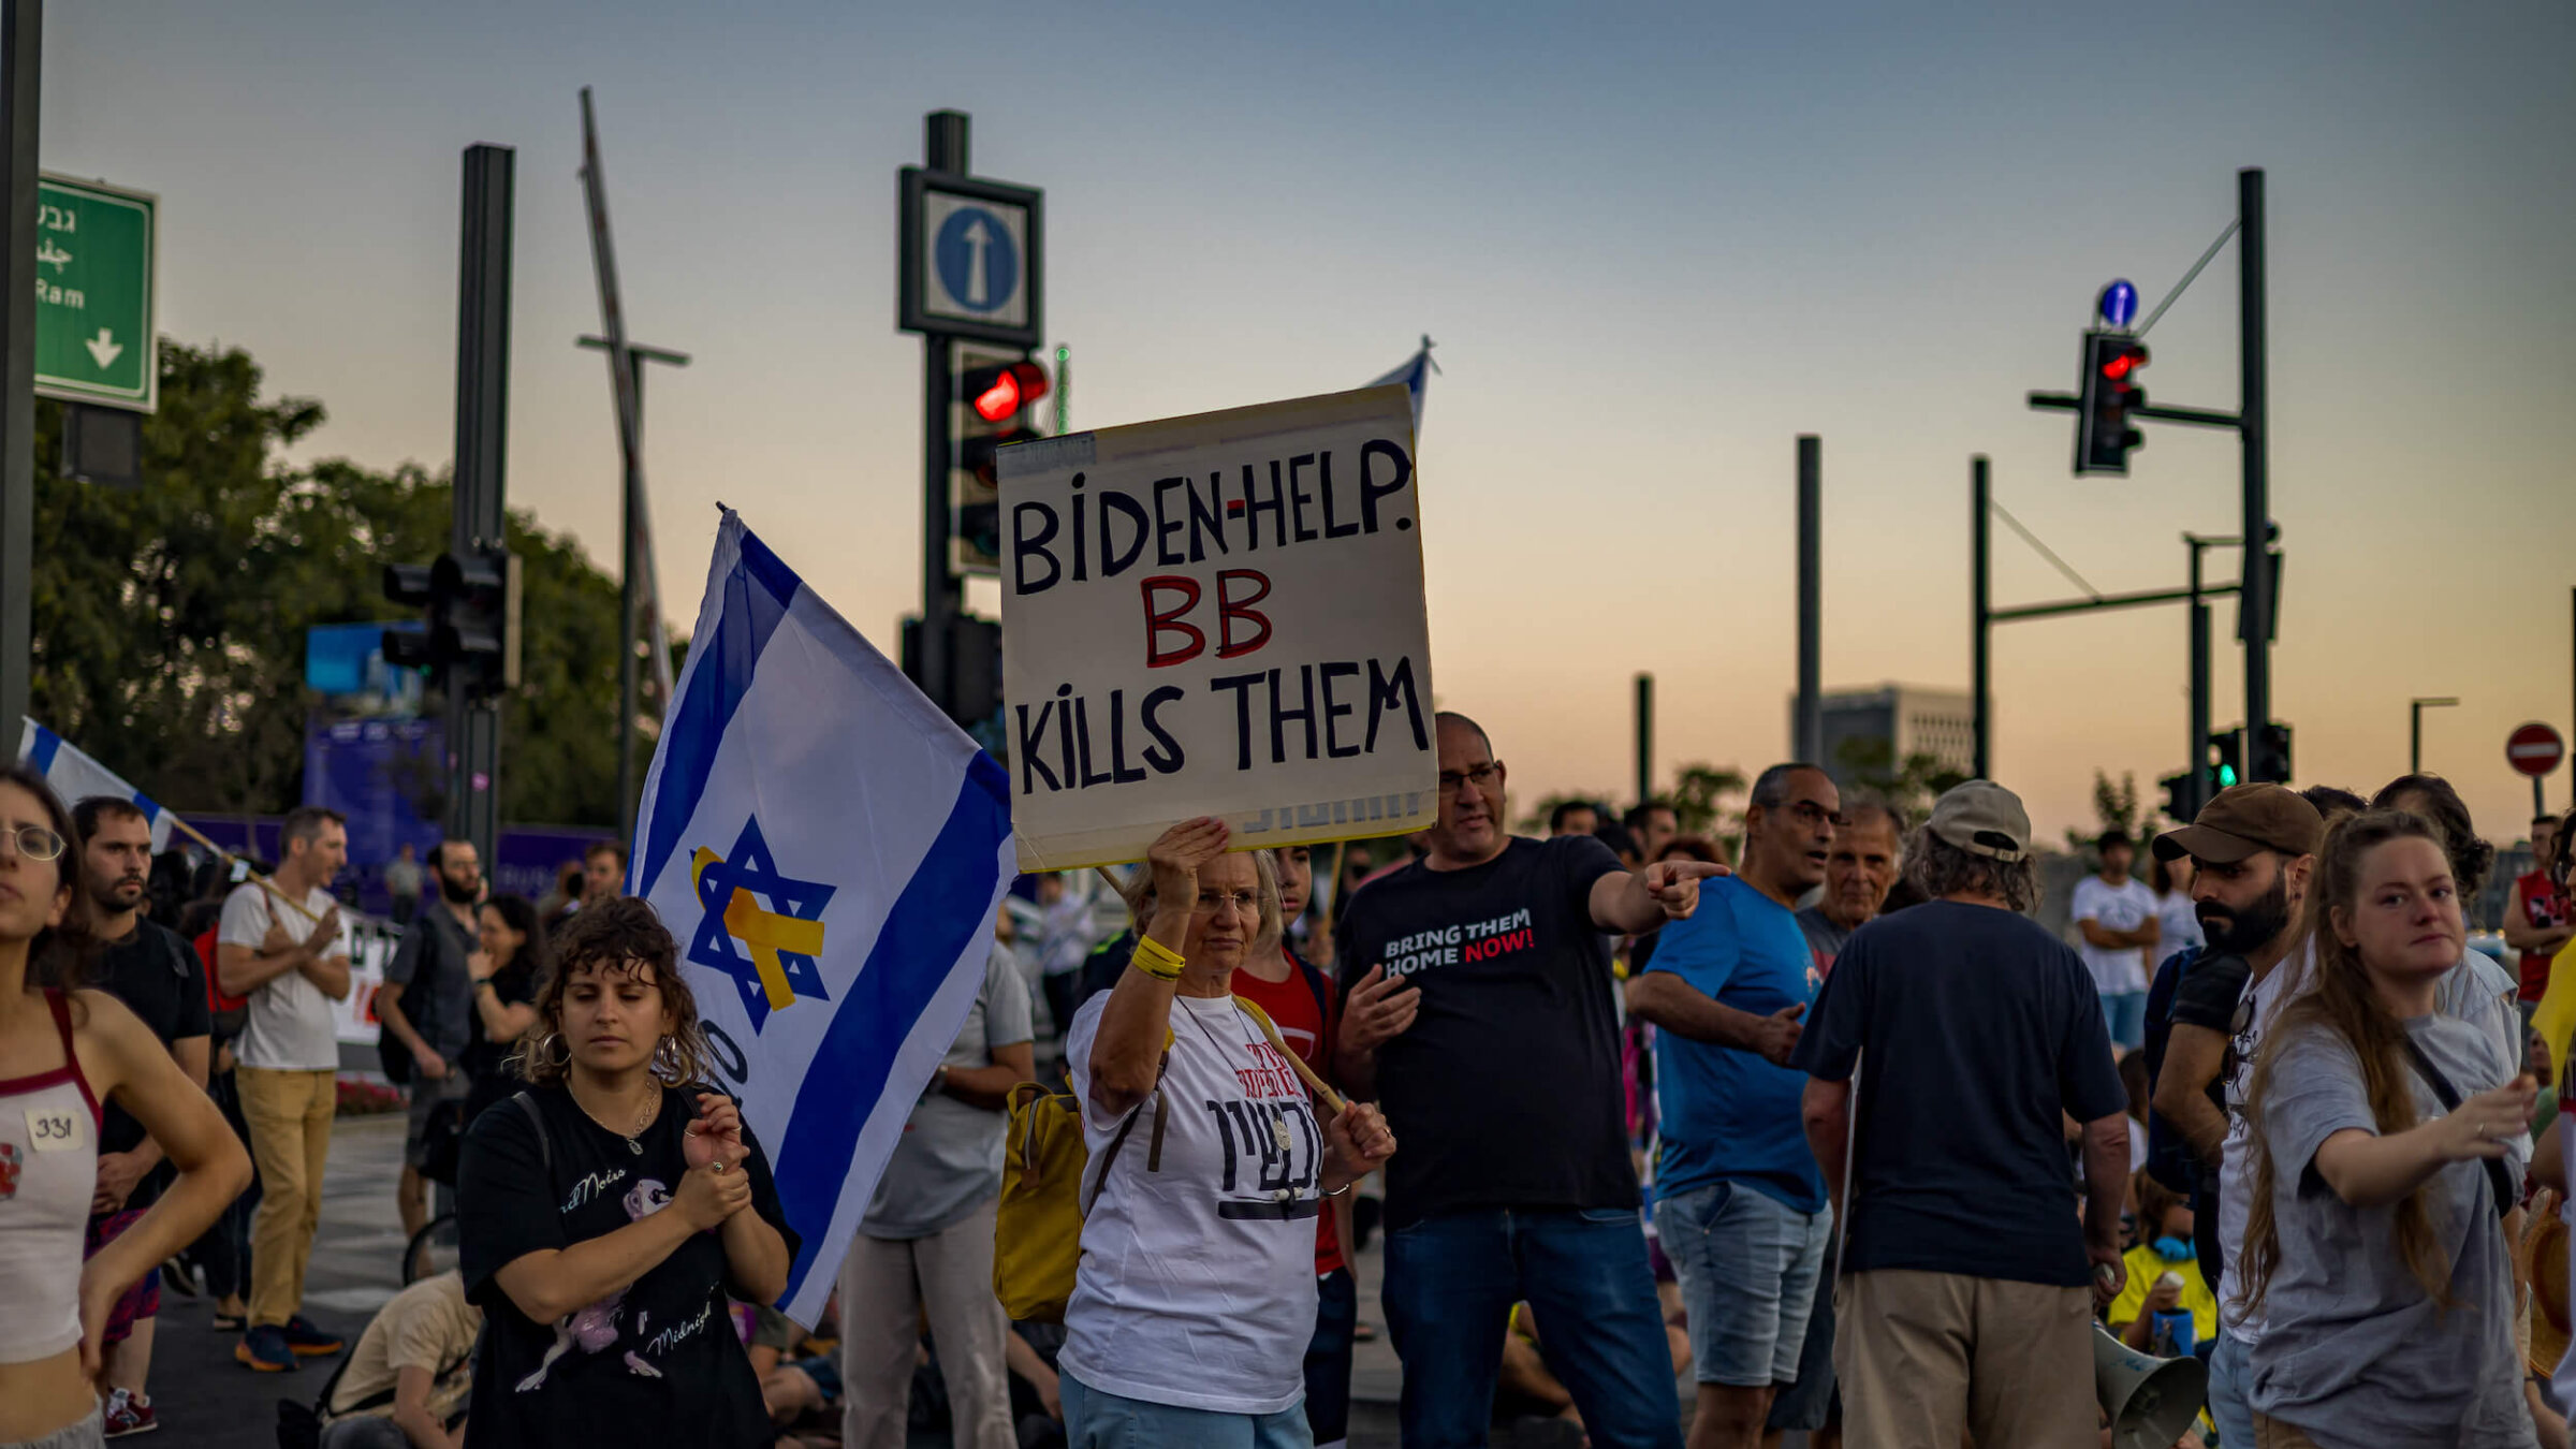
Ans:
POLYGON ((1852 1444, 2092 1444, 2092 1312, 2125 1281, 2128 1093, 2092 972, 2025 918, 2030 815, 1994 781, 1906 848, 1924 905, 1852 933, 1790 1065, 1844 1225, 1852 1444), (1857 1080, 1855 1080, 1857 1070, 1857 1080), (2084 1217, 2063 1122, 2084 1124, 2084 1217), (2087 1287, 2092 1289, 2087 1294, 2087 1287))

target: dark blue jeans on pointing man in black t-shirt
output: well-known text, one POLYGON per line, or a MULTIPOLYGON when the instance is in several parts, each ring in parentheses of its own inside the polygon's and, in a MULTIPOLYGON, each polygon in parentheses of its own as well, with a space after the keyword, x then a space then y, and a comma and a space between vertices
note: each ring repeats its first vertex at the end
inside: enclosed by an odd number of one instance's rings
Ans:
POLYGON ((1404 1359, 1404 1449, 1481 1449, 1512 1305, 1600 1449, 1682 1449, 1646 1230, 1625 1207, 1481 1209, 1386 1235, 1386 1330, 1404 1359))

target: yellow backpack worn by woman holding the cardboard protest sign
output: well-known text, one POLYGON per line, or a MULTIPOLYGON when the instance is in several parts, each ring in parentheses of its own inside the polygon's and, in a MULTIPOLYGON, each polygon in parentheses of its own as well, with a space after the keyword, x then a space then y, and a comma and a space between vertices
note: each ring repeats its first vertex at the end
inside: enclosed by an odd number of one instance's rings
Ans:
MULTIPOLYGON (((1170 1044, 1164 1044, 1170 1062, 1170 1044)), ((1139 1101, 1128 1119, 1118 1124, 1100 1171, 1090 1173, 1090 1150, 1082 1145, 1082 1104, 1069 1091, 1046 1091, 1043 1083, 1010 1088, 1010 1137, 1002 1150, 1002 1204, 992 1230, 992 1297, 1002 1299, 1002 1312, 1028 1323, 1064 1323, 1064 1305, 1074 1297, 1074 1269, 1082 1263, 1082 1217, 1100 1196, 1118 1150, 1144 1109, 1154 1109, 1154 1132, 1146 1142, 1144 1171, 1162 1171, 1162 1070, 1154 1073, 1154 1101, 1139 1101), (1090 1189, 1084 1189, 1090 1176, 1090 1189)))

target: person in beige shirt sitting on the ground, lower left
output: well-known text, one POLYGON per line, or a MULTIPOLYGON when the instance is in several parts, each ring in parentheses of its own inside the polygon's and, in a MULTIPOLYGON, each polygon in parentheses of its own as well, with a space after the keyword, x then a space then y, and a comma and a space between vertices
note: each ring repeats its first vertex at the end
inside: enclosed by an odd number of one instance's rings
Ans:
POLYGON ((461 1449, 479 1333, 456 1269, 394 1294, 322 1405, 322 1449, 461 1449))

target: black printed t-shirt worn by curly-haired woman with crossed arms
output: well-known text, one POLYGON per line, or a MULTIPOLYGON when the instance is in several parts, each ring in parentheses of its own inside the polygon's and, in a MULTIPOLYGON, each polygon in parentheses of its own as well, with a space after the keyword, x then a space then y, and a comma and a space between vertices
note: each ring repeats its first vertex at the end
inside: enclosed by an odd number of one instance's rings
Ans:
MULTIPOLYGON (((474 1119, 456 1178, 459 1266, 466 1299, 484 1310, 466 1441, 765 1449, 770 1415, 726 1312, 716 1232, 690 1235, 623 1294, 562 1323, 531 1320, 495 1279, 528 1253, 587 1243, 665 1209, 688 1171, 683 1140, 696 1091, 662 1093, 662 1116, 636 1140, 641 1152, 592 1122, 564 1088, 528 1088, 528 1101, 546 1119, 546 1145, 528 1111, 502 1101, 474 1119)), ((796 1253, 770 1160, 750 1129, 742 1142, 752 1212, 796 1253)))

